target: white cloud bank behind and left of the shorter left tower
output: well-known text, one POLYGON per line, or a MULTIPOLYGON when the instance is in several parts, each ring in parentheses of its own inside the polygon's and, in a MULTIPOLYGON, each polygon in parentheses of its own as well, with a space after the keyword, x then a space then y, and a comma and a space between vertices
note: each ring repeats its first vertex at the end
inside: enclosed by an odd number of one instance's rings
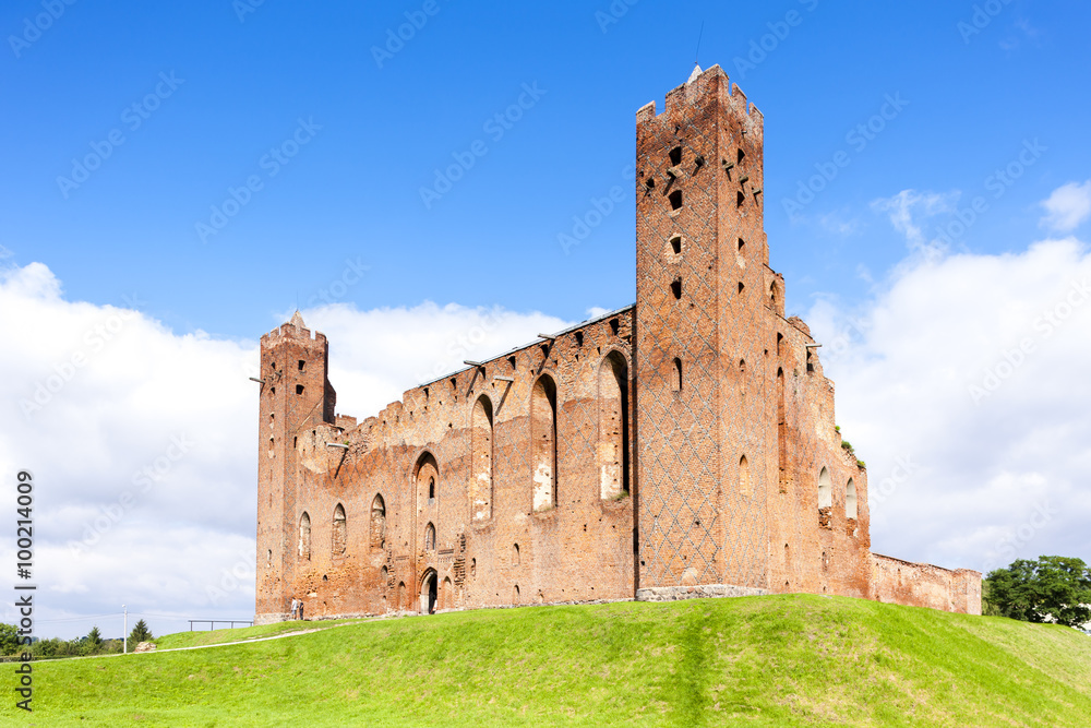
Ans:
MULTIPOLYGON (((360 418, 463 359, 567 325, 430 302, 303 315, 329 336, 338 410, 360 418)), ((98 623, 120 635, 120 617, 76 618, 122 604, 157 633, 252 614, 256 342, 179 335, 133 308, 65 300, 40 263, 0 270, 0 338, 15 343, 0 349, 0 473, 35 478, 38 634, 98 623)), ((14 513, 14 488, 0 492, 14 513)), ((0 539, 0 562, 14 568, 12 538, 0 539)))

